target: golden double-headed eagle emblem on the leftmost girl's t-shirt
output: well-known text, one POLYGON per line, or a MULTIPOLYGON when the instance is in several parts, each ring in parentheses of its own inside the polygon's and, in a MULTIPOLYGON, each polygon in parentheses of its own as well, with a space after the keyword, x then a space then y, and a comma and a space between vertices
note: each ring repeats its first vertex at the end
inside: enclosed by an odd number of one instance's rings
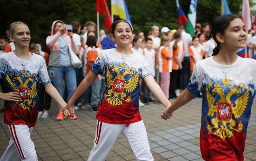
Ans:
POLYGON ((36 104, 35 100, 32 101, 32 99, 37 95, 35 77, 36 74, 28 74, 27 76, 27 70, 25 70, 25 68, 21 70, 21 74, 15 74, 13 71, 10 72, 9 75, 6 74, 6 80, 9 86, 13 89, 14 92, 20 93, 22 98, 22 100, 18 100, 17 104, 28 111, 30 107, 34 107, 36 104), (17 82, 18 85, 15 85, 14 82, 17 82), (33 83, 31 87, 28 87, 29 82, 33 83))

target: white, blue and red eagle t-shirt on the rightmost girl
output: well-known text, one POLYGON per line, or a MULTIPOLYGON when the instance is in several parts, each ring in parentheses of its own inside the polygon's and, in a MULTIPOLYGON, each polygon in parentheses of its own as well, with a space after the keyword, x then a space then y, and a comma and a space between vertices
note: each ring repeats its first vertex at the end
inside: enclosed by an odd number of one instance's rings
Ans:
POLYGON ((246 130, 255 96, 256 60, 237 56, 222 65, 214 56, 195 64, 187 89, 202 91, 200 146, 206 161, 243 161, 246 130))

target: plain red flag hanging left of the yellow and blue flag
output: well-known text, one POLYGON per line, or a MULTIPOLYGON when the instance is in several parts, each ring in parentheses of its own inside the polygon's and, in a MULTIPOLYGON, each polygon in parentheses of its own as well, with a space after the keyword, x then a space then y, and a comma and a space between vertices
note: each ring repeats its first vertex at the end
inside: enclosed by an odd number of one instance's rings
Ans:
POLYGON ((108 10, 108 5, 106 3, 106 0, 97 0, 96 12, 99 12, 104 16, 104 22, 105 22, 107 31, 109 31, 112 24, 112 20, 111 20, 110 12, 108 10))

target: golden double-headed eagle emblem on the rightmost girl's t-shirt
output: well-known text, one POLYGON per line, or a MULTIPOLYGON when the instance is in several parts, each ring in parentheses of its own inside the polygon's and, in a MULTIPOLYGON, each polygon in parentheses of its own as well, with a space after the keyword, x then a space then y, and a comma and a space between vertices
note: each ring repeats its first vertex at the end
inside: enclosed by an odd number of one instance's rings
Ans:
POLYGON ((213 84, 211 81, 206 87, 209 104, 208 117, 214 117, 211 123, 206 119, 207 129, 220 138, 231 138, 233 130, 237 132, 243 130, 243 122, 239 121, 237 124, 235 119, 243 115, 249 102, 250 90, 249 87, 246 89, 242 83, 239 87, 236 84, 230 87, 227 77, 222 80, 222 84, 220 86, 218 82, 213 84))

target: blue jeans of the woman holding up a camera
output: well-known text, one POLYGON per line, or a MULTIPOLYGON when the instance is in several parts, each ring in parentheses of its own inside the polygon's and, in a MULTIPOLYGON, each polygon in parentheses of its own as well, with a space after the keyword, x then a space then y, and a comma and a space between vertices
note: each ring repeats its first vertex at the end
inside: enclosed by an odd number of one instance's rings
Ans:
MULTIPOLYGON (((63 80, 65 81, 67 87, 67 101, 72 97, 76 89, 76 77, 75 71, 72 66, 60 66, 60 67, 49 67, 49 74, 51 81, 54 83, 54 87, 60 93, 63 98, 63 80)), ((57 105, 60 107, 60 105, 57 105)))

